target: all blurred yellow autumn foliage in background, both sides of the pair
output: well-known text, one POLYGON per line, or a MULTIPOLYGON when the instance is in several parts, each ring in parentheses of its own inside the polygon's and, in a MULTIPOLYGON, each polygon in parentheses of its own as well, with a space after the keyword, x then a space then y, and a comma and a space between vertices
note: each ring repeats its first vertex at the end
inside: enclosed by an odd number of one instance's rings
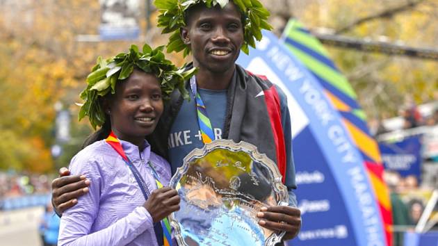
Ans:
MULTIPOLYGON (((140 28, 145 30, 145 1, 141 2, 140 28)), ((438 3, 435 0, 263 0, 270 24, 281 33, 289 17, 297 17, 311 30, 332 28, 354 38, 402 42, 412 47, 438 47, 438 3), (391 15, 408 3, 412 6, 391 15), (373 17, 375 18, 368 18, 373 17), (365 22, 357 22, 366 19, 365 22), (356 23, 356 24, 355 24, 356 23), (352 25, 351 25, 352 24, 352 25), (348 27, 348 28, 346 28, 348 27)), ((143 39, 126 42, 79 42, 79 35, 97 35, 99 1, 0 1, 0 170, 13 168, 54 172, 67 165, 83 138, 91 132, 87 122, 76 120, 79 92, 97 56, 114 56, 130 44, 165 44, 156 26, 143 39), (67 156, 51 158, 56 101, 70 110, 72 142, 67 156), (55 165, 56 163, 56 165, 55 165)), ((146 35, 145 35, 146 34, 146 35)), ((396 113, 409 93, 417 102, 432 99, 438 90, 438 63, 401 56, 364 53, 327 47, 336 65, 348 76, 368 115, 396 113)), ((181 55, 170 60, 182 65, 181 55)), ((67 150, 67 149, 66 149, 67 150)))

